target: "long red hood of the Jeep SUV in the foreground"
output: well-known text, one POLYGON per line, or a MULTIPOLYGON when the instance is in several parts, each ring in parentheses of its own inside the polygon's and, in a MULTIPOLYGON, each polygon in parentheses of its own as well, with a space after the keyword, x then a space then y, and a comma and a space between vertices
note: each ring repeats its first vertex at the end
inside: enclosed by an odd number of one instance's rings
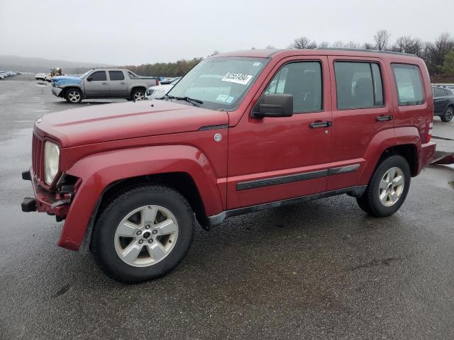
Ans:
POLYGON ((228 124, 228 113, 168 101, 137 101, 86 106, 49 113, 35 122, 35 131, 61 147, 112 140, 167 135, 228 124))

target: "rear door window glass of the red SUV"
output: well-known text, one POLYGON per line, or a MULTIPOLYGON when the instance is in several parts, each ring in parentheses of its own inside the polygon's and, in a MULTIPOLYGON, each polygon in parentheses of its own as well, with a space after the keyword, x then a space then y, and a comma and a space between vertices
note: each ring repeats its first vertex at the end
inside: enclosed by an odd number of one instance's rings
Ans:
POLYGON ((375 62, 335 62, 338 109, 384 105, 382 75, 375 62))

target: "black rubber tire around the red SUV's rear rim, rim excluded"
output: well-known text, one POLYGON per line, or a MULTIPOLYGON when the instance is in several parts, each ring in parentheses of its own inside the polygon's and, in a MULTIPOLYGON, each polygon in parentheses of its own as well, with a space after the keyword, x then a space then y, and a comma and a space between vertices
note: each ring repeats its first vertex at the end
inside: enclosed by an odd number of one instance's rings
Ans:
POLYGON ((405 201, 406 195, 409 192, 411 181, 411 171, 408 162, 404 157, 394 155, 384 159, 377 169, 375 169, 372 178, 370 179, 369 185, 360 198, 356 198, 358 205, 362 210, 375 217, 385 217, 394 214, 405 201), (380 201, 380 182, 382 181, 387 171, 392 168, 398 168, 402 171, 404 176, 404 188, 398 200, 390 205, 386 206, 380 201))

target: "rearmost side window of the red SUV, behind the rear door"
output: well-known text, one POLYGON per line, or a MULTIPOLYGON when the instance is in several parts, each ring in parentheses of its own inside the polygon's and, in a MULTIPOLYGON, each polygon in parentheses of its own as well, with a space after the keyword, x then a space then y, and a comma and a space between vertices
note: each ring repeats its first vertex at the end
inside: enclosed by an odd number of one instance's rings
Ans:
POLYGON ((423 83, 419 67, 409 64, 392 64, 392 72, 396 82, 399 106, 424 103, 423 83))

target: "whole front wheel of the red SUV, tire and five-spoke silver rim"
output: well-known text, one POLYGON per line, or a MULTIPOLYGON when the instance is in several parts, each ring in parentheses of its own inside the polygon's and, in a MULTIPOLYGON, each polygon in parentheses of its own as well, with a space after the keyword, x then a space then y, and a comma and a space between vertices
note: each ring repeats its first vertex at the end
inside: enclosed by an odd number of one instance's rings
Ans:
POLYGON ((90 249, 107 276, 124 283, 158 278, 182 261, 194 213, 172 188, 143 186, 114 198, 96 220, 90 249))

